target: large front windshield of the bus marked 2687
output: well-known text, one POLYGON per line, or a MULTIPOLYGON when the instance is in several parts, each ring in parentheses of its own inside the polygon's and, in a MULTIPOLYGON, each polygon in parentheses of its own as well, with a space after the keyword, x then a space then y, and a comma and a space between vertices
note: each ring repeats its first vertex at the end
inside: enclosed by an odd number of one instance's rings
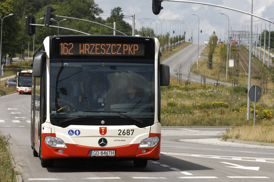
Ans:
POLYGON ((104 119, 108 124, 119 124, 117 120, 121 124, 134 124, 136 120, 153 123, 154 61, 104 61, 50 60, 52 124, 95 125, 98 123, 92 120, 96 119, 104 119))

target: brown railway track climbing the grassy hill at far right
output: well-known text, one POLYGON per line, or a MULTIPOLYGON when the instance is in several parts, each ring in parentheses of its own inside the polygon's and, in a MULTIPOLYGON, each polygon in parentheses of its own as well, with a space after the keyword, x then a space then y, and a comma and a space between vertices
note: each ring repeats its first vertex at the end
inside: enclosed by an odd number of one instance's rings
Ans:
MULTIPOLYGON (((237 47, 237 50, 239 51, 239 64, 238 69, 240 69, 241 73, 248 74, 248 67, 249 67, 249 57, 243 52, 243 50, 240 47, 237 47)), ((253 62, 251 62, 251 74, 254 75, 260 75, 260 70, 255 66, 253 62)))

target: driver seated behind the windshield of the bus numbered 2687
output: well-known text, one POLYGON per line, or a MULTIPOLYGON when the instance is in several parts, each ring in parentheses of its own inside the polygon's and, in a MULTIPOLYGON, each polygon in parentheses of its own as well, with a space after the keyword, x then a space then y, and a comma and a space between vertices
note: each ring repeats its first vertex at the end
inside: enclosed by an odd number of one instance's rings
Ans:
POLYGON ((136 95, 136 87, 133 84, 130 84, 127 87, 127 93, 128 95, 126 97, 122 97, 119 100, 119 103, 143 103, 145 104, 146 102, 142 97, 139 97, 136 95))

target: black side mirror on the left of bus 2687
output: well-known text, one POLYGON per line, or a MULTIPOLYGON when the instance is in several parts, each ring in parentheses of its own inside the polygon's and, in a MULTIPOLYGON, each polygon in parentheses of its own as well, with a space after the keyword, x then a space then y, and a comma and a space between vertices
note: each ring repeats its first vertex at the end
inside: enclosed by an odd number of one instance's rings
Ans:
POLYGON ((35 78, 42 77, 42 68, 43 63, 46 60, 46 53, 45 52, 37 52, 33 59, 33 67, 32 67, 32 75, 35 78))

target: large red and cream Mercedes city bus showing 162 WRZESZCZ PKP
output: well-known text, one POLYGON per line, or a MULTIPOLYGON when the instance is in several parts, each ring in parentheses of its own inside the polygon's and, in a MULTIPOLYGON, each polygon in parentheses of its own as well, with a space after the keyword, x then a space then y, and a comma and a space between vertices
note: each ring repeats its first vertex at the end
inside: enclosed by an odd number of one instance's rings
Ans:
POLYGON ((44 39, 31 95, 31 147, 42 167, 61 158, 159 160, 160 86, 170 82, 159 48, 148 37, 44 39))

